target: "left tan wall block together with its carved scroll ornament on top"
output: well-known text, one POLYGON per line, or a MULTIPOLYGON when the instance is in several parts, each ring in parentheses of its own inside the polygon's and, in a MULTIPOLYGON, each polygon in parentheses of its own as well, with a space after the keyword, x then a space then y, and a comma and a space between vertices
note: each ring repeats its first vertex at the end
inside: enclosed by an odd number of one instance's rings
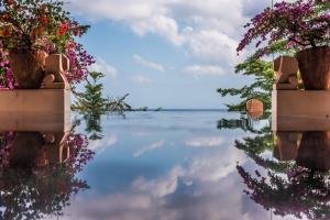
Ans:
POLYGON ((34 84, 43 85, 41 89, 29 84, 30 89, 0 90, 0 131, 69 131, 70 86, 64 75, 68 58, 63 54, 43 57, 42 82, 34 84))

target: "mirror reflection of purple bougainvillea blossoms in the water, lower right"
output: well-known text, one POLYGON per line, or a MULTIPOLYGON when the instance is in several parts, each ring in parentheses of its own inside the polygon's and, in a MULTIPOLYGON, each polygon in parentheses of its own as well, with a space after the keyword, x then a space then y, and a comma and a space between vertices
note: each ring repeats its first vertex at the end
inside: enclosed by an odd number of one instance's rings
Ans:
POLYGON ((252 175, 244 167, 237 169, 244 180, 244 193, 264 209, 272 209, 276 216, 295 216, 312 220, 330 218, 330 177, 327 173, 318 173, 294 166, 290 176, 266 170, 264 176, 252 175))

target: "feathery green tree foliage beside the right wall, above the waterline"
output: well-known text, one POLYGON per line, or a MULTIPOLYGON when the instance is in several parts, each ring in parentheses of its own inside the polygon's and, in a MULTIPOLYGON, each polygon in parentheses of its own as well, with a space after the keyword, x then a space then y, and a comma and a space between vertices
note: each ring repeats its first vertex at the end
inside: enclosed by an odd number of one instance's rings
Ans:
POLYGON ((266 110, 271 109, 271 96, 274 82, 274 70, 271 62, 265 62, 251 57, 244 63, 235 66, 237 74, 245 76, 254 76, 255 80, 251 85, 242 88, 220 88, 218 92, 222 96, 239 96, 242 100, 237 105, 226 105, 229 111, 245 111, 246 101, 250 99, 258 99, 264 102, 266 110))

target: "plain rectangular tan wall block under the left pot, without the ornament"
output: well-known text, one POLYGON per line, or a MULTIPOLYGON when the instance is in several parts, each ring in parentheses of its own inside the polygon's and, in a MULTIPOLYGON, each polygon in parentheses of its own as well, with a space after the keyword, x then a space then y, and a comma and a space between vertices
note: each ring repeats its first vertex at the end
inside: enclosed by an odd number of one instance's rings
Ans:
POLYGON ((0 131, 69 131, 70 91, 1 90, 0 121, 0 131))

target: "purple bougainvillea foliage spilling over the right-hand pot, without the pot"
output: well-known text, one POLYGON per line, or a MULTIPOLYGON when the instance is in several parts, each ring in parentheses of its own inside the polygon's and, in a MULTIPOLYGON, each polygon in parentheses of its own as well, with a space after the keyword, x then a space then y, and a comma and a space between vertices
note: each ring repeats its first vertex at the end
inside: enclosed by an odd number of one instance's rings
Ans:
POLYGON ((267 43, 258 51, 258 57, 278 41, 286 41, 287 47, 297 50, 330 45, 329 4, 329 0, 298 0, 266 8, 244 26, 248 32, 237 48, 238 53, 254 41, 256 47, 267 43))

